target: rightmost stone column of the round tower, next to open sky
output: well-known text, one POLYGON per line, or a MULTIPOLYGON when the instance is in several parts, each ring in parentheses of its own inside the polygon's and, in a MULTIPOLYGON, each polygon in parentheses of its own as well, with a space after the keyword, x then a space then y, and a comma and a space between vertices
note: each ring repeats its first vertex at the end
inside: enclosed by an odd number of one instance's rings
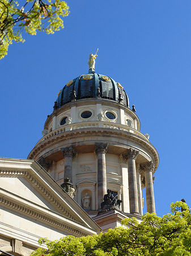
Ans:
POLYGON ((155 197, 152 180, 152 171, 154 170, 154 164, 151 162, 143 163, 140 165, 142 171, 145 172, 145 187, 146 187, 146 202, 147 212, 155 213, 155 197))

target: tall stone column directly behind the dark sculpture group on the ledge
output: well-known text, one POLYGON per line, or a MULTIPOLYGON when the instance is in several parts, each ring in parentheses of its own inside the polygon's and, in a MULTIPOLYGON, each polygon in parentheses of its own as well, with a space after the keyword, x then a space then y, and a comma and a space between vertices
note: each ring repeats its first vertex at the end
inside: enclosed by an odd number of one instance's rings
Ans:
POLYGON ((107 177, 105 154, 107 152, 108 143, 96 143, 95 153, 97 155, 97 205, 101 207, 104 195, 107 194, 107 177))

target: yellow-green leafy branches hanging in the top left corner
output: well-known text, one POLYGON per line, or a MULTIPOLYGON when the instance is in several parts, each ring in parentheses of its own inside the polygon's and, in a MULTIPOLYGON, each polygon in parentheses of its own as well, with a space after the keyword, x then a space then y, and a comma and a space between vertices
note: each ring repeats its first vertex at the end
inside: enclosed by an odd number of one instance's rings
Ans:
POLYGON ((0 0, 0 59, 12 41, 24 42, 23 30, 30 35, 37 30, 54 34, 63 28, 62 17, 67 15, 69 7, 60 0, 0 0))

